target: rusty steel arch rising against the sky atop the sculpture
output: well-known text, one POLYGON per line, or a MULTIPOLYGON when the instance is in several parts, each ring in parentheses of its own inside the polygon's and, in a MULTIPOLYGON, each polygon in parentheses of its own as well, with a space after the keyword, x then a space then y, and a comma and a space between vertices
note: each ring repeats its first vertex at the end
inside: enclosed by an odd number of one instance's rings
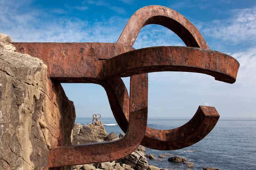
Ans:
POLYGON ((198 29, 182 14, 165 6, 145 6, 128 20, 118 43, 132 46, 143 26, 157 24, 169 28, 189 47, 209 49, 198 29))

